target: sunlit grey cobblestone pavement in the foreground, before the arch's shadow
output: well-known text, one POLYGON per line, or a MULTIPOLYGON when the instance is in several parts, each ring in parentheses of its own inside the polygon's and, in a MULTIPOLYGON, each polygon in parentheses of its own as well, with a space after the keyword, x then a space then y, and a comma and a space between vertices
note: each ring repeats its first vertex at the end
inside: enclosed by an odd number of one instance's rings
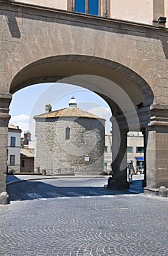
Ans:
POLYGON ((0 206, 0 255, 168 255, 168 200, 57 197, 0 206))

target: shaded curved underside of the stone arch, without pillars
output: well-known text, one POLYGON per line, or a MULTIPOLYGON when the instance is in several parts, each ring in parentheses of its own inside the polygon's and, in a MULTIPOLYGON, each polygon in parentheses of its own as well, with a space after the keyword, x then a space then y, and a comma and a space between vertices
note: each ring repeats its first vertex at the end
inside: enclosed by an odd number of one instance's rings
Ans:
POLYGON ((29 64, 12 80, 10 92, 36 83, 69 83, 99 94, 117 116, 153 103, 153 92, 136 72, 92 56, 51 56, 29 64), (124 102, 124 105, 121 105, 124 102), (121 108, 120 108, 121 107, 121 108))

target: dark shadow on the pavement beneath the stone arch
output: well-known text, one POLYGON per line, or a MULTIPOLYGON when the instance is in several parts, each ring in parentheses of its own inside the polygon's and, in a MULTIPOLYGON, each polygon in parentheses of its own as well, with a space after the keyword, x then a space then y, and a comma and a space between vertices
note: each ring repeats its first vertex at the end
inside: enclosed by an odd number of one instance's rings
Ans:
POLYGON ((143 193, 142 181, 133 181, 130 189, 108 190, 105 187, 56 187, 41 181, 22 181, 7 185, 10 201, 55 197, 92 197, 143 193))

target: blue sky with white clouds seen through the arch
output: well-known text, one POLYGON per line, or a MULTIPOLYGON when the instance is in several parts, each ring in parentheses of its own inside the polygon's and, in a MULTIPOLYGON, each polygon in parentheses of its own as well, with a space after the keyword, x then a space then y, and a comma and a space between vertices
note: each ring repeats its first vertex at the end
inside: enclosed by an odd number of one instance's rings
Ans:
POLYGON ((9 107, 9 122, 18 125, 23 132, 29 130, 33 140, 33 116, 45 113, 45 105, 48 103, 52 105, 52 110, 67 108, 72 96, 76 98, 78 108, 105 118, 105 132, 111 131, 111 110, 108 104, 92 91, 64 83, 42 83, 17 91, 9 107))

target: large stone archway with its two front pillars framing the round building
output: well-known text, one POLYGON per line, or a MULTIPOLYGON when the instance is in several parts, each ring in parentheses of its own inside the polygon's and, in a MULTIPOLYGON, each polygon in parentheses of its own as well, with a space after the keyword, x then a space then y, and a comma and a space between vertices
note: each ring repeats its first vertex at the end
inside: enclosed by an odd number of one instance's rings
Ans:
POLYGON ((132 104, 126 101, 121 108, 121 100, 117 104, 114 94, 109 97, 109 89, 111 94, 116 90, 108 82, 91 89, 113 107, 121 137, 128 129, 126 119, 132 125, 138 116, 140 127, 146 132, 147 187, 168 187, 167 31, 6 1, 1 4, 0 15, 0 192, 6 189, 7 124, 12 93, 32 83, 76 75, 113 81, 113 86, 127 95, 132 104), (136 110, 133 113, 132 106, 136 110))

